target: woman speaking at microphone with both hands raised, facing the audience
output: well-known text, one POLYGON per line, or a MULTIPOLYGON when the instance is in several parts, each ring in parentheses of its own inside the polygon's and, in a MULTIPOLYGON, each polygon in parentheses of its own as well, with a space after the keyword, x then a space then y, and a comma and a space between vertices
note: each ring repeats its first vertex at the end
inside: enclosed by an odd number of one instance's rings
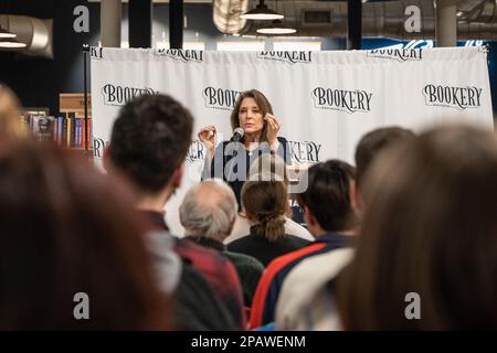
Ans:
POLYGON ((286 139, 278 137, 279 120, 273 115, 267 98, 257 89, 240 95, 230 122, 233 137, 218 148, 215 126, 204 127, 198 135, 208 150, 202 179, 223 179, 233 189, 240 205, 242 186, 252 162, 263 153, 276 153, 289 163, 290 154, 286 139))

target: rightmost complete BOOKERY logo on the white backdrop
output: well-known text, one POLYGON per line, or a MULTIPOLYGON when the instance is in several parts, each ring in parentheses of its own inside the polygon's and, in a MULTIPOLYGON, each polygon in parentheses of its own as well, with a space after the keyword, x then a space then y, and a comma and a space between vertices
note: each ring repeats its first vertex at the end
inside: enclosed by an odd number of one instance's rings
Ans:
POLYGON ((442 106, 465 110, 480 106, 483 88, 452 87, 429 84, 423 88, 425 104, 427 106, 442 106))

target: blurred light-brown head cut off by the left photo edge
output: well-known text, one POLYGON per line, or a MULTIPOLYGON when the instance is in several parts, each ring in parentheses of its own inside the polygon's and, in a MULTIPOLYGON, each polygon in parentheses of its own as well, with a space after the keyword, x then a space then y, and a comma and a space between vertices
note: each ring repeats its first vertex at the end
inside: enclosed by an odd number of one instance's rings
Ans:
POLYGON ((28 136, 28 129, 21 122, 20 115, 18 98, 12 90, 0 84, 0 140, 28 136))

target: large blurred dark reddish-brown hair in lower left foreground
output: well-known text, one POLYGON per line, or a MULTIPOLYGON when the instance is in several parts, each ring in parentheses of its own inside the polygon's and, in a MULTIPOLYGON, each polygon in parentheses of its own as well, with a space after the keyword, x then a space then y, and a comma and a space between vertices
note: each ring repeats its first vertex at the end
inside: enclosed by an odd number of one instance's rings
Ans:
POLYGON ((0 143, 0 330, 167 329, 133 204, 55 146, 0 143), (74 315, 81 292, 89 320, 74 315))

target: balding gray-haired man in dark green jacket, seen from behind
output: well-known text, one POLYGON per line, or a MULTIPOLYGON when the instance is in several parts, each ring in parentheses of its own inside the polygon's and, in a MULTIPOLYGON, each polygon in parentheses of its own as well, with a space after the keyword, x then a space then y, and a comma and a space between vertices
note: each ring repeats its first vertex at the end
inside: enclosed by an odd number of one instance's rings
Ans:
POLYGON ((242 284, 245 307, 251 307, 264 266, 252 256, 228 252, 223 244, 233 228, 237 208, 233 190, 228 184, 208 180, 187 192, 179 213, 189 239, 221 252, 233 263, 242 284))

